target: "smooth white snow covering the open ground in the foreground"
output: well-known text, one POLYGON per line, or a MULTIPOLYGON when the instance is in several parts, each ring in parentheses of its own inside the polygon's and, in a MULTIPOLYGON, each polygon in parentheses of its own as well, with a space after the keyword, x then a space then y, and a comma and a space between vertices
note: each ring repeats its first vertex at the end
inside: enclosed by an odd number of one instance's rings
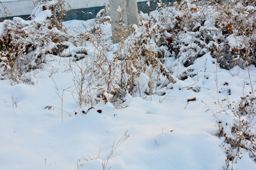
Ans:
MULTIPOLYGON (((93 22, 72 20, 64 26, 76 35, 93 22)), ((109 25, 105 29, 111 32, 109 25)), ((86 49, 88 54, 95 51, 89 42, 86 49)), ((236 66, 227 71, 218 65, 216 70, 216 59, 206 53, 188 68, 180 66, 173 75, 190 69, 195 76, 167 85, 163 95, 143 99, 128 94, 122 109, 104 101, 89 109, 79 108, 77 95, 70 92, 74 91, 70 58, 47 55, 46 60, 44 68, 27 73, 33 85, 0 80, 0 170, 102 170, 119 139, 125 140, 105 170, 227 168, 224 137, 216 136, 217 122, 226 121, 232 127, 233 115, 218 113, 223 110, 218 100, 236 101, 249 94, 247 70, 236 66)), ((177 62, 169 57, 166 66, 175 67, 177 62)), ((256 68, 249 68, 256 87, 256 68)), ((241 152, 233 169, 255 170, 255 162, 245 150, 241 152)))

